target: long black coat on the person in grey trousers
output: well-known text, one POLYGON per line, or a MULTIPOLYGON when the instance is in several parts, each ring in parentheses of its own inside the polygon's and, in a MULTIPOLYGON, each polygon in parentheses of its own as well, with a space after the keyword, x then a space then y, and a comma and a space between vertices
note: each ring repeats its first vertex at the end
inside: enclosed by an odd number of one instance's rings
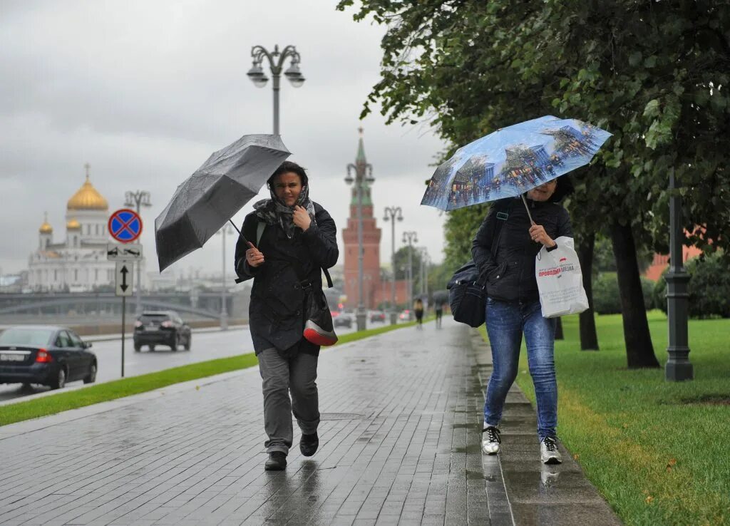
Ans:
POLYGON ((322 206, 312 204, 315 220, 305 232, 296 228, 291 239, 279 225, 266 225, 256 244, 260 219, 252 212, 243 222, 243 235, 264 254, 261 266, 250 267, 246 262, 247 244, 240 238, 236 244, 236 273, 243 280, 253 278, 248 320, 256 354, 271 347, 283 356, 319 352, 318 346, 302 336, 307 290, 302 282, 310 282, 312 293, 321 294, 321 269, 337 263, 339 250, 334 220, 322 206))

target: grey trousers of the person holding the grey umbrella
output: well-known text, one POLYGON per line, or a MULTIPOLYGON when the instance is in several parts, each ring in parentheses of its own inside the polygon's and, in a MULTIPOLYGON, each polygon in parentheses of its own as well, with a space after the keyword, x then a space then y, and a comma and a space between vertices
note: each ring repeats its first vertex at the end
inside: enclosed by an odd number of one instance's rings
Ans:
POLYGON ((287 455, 293 441, 293 412, 301 433, 312 435, 319 425, 318 357, 298 353, 285 360, 273 347, 258 353, 258 372, 264 388, 266 452, 287 455), (291 399, 289 393, 291 392, 291 399))

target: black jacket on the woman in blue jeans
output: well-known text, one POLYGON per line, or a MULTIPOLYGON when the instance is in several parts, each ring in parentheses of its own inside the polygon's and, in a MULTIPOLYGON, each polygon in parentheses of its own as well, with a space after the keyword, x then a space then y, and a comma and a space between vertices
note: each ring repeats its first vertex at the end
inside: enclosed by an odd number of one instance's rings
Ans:
MULTIPOLYGON (((558 236, 573 236, 570 217, 566 209, 557 203, 527 200, 532 219, 545 227, 552 239, 558 236)), ((504 217, 500 214, 500 217, 504 217)), ((500 301, 539 301, 535 279, 535 256, 542 248, 541 243, 532 241, 530 219, 521 198, 496 201, 472 241, 472 258, 485 276, 487 295, 500 301), (497 212, 507 214, 507 219, 498 219, 497 212), (493 234, 497 221, 502 223, 497 234, 499 245, 492 257, 493 234)))

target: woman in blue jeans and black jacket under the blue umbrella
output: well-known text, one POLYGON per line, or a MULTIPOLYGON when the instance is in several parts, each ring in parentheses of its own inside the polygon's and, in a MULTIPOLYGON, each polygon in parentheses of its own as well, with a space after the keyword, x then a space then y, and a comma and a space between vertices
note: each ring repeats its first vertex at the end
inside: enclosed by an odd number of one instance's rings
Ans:
POLYGON ((507 391, 517 377, 524 333, 537 399, 540 459, 545 464, 562 461, 556 443, 558 386, 553 360, 556 320, 542 317, 535 256, 542 245, 548 250, 557 247, 554 239, 559 236, 573 236, 568 212, 558 204, 571 190, 564 177, 530 190, 527 203, 534 220, 532 224, 520 198, 515 198, 497 239, 493 239, 493 232, 498 220, 496 210, 501 208, 491 206, 472 242, 472 256, 487 279, 486 325, 493 362, 484 403, 482 450, 487 455, 499 453, 498 426, 507 391), (494 256, 493 244, 496 244, 494 256))

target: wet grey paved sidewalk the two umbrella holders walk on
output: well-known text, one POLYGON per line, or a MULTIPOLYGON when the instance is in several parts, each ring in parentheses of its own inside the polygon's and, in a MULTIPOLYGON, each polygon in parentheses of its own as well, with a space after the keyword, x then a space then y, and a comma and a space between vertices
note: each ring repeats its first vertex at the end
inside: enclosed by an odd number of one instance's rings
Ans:
POLYGON ((541 469, 520 392, 501 459, 480 454, 473 335, 444 320, 323 350, 320 449, 297 430, 284 472, 263 469, 256 368, 4 426, 0 524, 618 524, 565 451, 541 469))

